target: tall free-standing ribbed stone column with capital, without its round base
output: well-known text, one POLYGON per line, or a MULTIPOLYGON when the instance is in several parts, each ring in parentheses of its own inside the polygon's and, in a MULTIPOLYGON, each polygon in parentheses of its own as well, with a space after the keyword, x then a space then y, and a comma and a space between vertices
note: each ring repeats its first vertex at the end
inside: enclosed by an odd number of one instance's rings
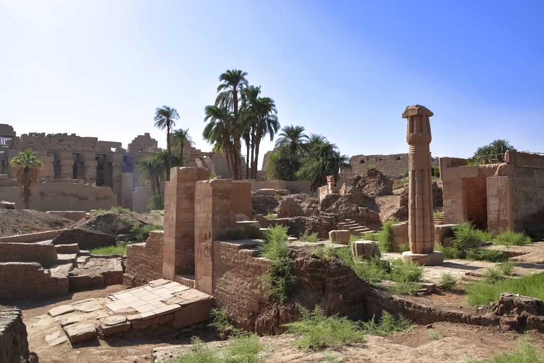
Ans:
POLYGON ((432 112, 418 104, 406 107, 403 118, 408 119, 406 142, 409 147, 408 238, 413 254, 430 254, 434 249, 434 216, 431 184, 431 125, 432 112))

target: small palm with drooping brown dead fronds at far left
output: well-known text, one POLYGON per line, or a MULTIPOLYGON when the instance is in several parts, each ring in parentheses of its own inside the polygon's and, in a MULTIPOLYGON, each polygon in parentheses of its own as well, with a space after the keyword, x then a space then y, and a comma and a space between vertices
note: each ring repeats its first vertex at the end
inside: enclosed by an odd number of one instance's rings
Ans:
POLYGON ((30 149, 21 151, 9 163, 12 167, 19 168, 15 173, 15 179, 17 179, 17 185, 23 189, 24 208, 29 209, 30 195, 32 195, 30 187, 38 183, 40 169, 44 167, 44 163, 39 161, 36 152, 30 149))

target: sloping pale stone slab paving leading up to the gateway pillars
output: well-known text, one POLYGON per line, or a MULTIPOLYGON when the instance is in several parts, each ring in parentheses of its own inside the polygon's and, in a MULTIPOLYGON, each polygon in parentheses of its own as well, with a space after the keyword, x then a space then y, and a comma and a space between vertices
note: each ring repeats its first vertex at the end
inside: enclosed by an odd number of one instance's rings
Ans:
POLYGON ((46 341, 49 344, 59 344, 66 338, 76 344, 95 339, 98 334, 108 336, 131 329, 188 327, 209 319, 213 306, 212 296, 159 279, 106 298, 57 306, 48 311, 48 316, 39 318, 53 319, 66 335, 63 339, 59 331, 48 331, 46 341))

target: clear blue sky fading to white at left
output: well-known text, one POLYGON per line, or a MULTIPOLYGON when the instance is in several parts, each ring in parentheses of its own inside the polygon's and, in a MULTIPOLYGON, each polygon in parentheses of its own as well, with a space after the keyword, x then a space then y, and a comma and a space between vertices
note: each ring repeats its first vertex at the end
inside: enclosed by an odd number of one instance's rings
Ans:
POLYGON ((0 123, 164 147, 167 105, 209 151, 203 109, 241 69, 282 127, 348 156, 407 152, 411 104, 435 113, 433 156, 544 152, 543 16, 541 0, 0 0, 0 123))

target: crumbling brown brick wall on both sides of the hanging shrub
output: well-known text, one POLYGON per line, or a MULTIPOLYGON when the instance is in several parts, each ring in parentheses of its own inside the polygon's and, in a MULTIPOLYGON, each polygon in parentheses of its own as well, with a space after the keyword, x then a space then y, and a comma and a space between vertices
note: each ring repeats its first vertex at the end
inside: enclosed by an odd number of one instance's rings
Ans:
POLYGON ((301 304, 307 309, 319 305, 327 315, 368 318, 364 295, 367 282, 351 268, 331 259, 320 261, 310 250, 292 250, 298 285, 285 304, 269 298, 258 276, 268 272, 270 261, 254 257, 251 240, 213 243, 213 296, 221 309, 244 329, 277 334, 283 324, 296 320, 301 304))

